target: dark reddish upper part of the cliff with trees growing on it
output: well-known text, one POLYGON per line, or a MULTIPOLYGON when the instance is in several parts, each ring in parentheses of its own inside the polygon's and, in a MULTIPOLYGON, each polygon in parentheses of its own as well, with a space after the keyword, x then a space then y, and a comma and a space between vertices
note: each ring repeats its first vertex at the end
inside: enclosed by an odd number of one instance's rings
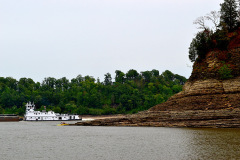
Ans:
POLYGON ((189 47, 189 59, 195 62, 190 81, 240 75, 240 7, 236 0, 224 0, 220 11, 212 11, 194 21, 201 29, 189 47), (213 28, 206 26, 211 21, 213 28))

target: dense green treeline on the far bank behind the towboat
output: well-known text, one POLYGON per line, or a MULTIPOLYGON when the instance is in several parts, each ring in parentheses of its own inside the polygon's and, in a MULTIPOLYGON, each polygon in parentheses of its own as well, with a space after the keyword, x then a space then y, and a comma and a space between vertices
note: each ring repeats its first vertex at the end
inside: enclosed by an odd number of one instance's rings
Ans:
POLYGON ((58 113, 118 114, 136 113, 165 102, 182 90, 186 78, 166 70, 138 73, 129 70, 115 72, 113 82, 110 73, 103 82, 91 76, 68 80, 66 77, 45 78, 42 83, 31 78, 17 81, 11 77, 0 77, 0 114, 25 113, 25 104, 34 102, 38 110, 54 110, 58 113))

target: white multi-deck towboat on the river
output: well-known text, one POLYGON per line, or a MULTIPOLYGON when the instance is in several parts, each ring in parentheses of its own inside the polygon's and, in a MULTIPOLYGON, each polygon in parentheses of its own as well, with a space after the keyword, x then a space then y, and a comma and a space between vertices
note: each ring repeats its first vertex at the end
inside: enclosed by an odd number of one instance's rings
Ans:
POLYGON ((43 110, 35 111, 34 103, 26 104, 26 113, 24 115, 25 121, 70 121, 70 120, 81 120, 78 115, 59 114, 54 111, 43 110))

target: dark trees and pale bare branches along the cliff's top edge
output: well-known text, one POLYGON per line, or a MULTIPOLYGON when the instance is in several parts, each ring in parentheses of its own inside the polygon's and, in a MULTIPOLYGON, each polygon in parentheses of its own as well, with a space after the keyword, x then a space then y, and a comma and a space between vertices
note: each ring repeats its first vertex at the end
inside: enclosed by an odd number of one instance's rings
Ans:
POLYGON ((224 0, 220 6, 220 12, 212 11, 194 22, 202 30, 196 34, 190 44, 189 59, 191 62, 202 61, 211 50, 227 50, 230 41, 229 32, 240 27, 239 4, 236 0, 224 0), (205 26, 205 20, 210 20, 214 24, 215 30, 205 26), (218 22, 219 24, 217 24, 218 22))

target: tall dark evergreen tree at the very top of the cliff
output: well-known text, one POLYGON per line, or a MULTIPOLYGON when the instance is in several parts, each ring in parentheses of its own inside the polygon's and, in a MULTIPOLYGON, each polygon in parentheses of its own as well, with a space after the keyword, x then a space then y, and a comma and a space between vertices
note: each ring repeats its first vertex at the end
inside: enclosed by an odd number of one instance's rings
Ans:
POLYGON ((237 26, 239 18, 236 0, 224 0, 220 6, 220 26, 226 25, 229 31, 233 31, 233 29, 237 26))

